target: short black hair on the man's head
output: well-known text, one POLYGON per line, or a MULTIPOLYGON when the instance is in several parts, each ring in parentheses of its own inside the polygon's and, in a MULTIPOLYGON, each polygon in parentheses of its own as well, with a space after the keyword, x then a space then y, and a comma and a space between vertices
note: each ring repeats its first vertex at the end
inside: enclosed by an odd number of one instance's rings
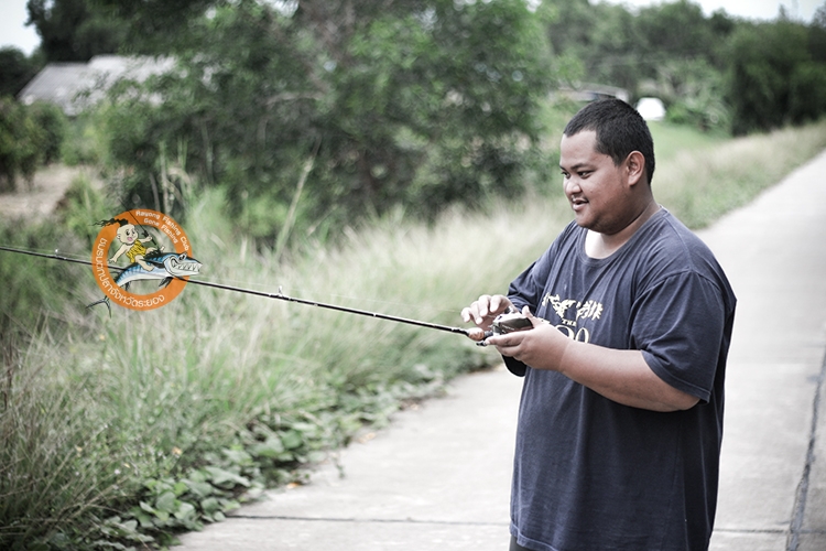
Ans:
POLYGON ((563 133, 574 136, 584 130, 597 133, 597 152, 609 155, 617 166, 632 151, 642 153, 651 184, 654 177, 654 140, 637 109, 621 99, 593 101, 574 115, 563 133))

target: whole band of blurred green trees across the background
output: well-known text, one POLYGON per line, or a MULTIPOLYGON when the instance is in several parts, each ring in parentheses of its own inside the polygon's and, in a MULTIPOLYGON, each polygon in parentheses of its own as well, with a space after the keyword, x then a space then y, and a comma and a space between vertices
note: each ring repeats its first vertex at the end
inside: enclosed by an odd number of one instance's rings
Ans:
MULTIPOLYGON (((634 12, 588 0, 30 0, 29 12, 41 47, 0 53, 0 95, 46 62, 174 60, 74 120, 87 143, 73 136, 67 158, 104 163, 127 206, 182 216, 193 180, 219 187, 239 229, 273 244, 326 239, 396 205, 432 219, 543 187, 556 163, 542 110, 584 83, 659 97, 669 120, 735 136, 826 109, 824 7, 809 23, 782 10, 771 22, 706 17, 688 0, 634 12)), ((39 130, 55 119, 43 108, 0 109, 9 188, 55 160, 40 144, 67 130, 39 130)))

